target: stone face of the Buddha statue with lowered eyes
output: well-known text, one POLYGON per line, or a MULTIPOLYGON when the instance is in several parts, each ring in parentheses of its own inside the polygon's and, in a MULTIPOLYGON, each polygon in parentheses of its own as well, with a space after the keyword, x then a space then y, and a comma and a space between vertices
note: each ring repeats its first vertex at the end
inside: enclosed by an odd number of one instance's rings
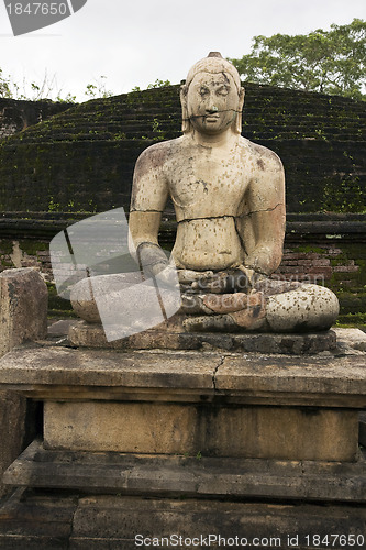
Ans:
POLYGON ((220 134, 231 127, 240 110, 236 86, 225 73, 199 73, 189 85, 187 112, 192 127, 203 134, 220 134))

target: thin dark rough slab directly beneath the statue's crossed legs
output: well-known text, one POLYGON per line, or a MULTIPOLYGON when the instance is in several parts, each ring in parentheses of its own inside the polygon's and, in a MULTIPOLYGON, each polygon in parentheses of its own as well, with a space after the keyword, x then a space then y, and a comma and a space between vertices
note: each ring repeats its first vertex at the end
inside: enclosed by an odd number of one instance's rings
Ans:
POLYGON ((336 348, 335 332, 279 334, 247 332, 184 332, 179 324, 154 329, 108 342, 101 324, 79 321, 69 329, 71 345, 112 350, 225 350, 239 352, 314 354, 336 348))

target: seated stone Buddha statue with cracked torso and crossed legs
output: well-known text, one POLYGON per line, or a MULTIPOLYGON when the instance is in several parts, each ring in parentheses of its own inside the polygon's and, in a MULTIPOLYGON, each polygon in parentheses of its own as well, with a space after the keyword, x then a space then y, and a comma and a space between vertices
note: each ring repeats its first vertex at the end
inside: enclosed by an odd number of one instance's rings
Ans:
POLYGON ((180 100, 182 135, 136 162, 131 254, 152 277, 178 271, 185 330, 329 329, 339 314, 330 289, 270 278, 282 256, 285 174, 273 151, 241 135, 237 70, 210 53, 189 70, 180 100), (170 260, 158 243, 168 197, 177 220, 170 260))

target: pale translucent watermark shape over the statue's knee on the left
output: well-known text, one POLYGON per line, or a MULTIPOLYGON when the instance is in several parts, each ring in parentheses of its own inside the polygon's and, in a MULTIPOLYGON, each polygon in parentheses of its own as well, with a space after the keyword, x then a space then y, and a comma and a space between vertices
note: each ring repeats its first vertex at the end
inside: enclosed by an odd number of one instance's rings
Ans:
POLYGON ((109 342, 162 323, 181 305, 173 260, 152 276, 148 260, 140 266, 132 260, 129 241, 124 210, 115 208, 70 226, 49 244, 58 295, 92 300, 109 342))

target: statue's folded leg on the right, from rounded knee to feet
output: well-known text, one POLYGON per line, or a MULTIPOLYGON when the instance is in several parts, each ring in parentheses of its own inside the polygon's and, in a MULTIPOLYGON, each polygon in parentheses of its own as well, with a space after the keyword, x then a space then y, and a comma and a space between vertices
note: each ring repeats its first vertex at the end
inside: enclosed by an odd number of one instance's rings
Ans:
POLYGON ((188 317, 184 327, 190 332, 311 332, 328 330, 335 322, 339 300, 332 290, 318 285, 278 283, 270 286, 267 296, 259 292, 186 296, 184 311, 196 315, 188 317), (285 288, 289 290, 280 292, 285 288))

